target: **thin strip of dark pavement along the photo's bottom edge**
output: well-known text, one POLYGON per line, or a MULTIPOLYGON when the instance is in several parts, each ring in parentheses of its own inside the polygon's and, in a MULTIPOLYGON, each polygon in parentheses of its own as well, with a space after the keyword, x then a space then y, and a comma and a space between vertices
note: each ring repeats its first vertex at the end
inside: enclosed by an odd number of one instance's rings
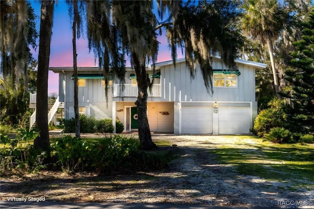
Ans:
MULTIPOLYGON (((175 205, 175 204, 122 204, 122 203, 63 203, 0 201, 0 209, 245 209, 239 207, 175 205)), ((253 209, 253 208, 252 208, 253 209)), ((257 209, 257 208, 254 208, 257 209)))

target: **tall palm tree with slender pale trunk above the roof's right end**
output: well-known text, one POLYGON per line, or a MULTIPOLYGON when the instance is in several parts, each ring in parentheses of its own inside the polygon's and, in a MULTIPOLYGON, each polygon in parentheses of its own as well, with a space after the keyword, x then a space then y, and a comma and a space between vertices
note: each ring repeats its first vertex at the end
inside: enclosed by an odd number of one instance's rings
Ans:
POLYGON ((274 87, 277 97, 280 97, 279 81, 274 61, 274 40, 284 29, 288 20, 288 13, 280 8, 277 0, 246 0, 243 3, 245 9, 241 26, 249 38, 267 45, 271 69, 274 78, 274 87))

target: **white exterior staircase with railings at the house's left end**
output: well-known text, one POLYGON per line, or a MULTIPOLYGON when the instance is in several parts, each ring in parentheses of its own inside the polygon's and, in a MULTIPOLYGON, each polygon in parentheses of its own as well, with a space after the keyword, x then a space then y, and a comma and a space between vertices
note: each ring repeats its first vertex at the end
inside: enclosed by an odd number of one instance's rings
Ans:
MULTIPOLYGON (((29 104, 36 104, 36 94, 30 95, 29 104)), ((57 112, 60 104, 61 103, 59 102, 59 96, 55 100, 54 98, 52 99, 52 97, 48 98, 48 123, 52 121, 52 118, 57 112)), ((36 109, 33 112, 33 114, 29 116, 29 129, 31 129, 35 125, 35 122, 36 122, 36 109)))

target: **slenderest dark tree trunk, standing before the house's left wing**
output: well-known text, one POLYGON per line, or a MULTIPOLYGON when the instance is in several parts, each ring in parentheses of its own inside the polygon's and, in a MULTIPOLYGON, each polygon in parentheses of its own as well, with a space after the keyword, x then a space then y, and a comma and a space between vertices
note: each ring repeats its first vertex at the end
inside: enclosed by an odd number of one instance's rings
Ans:
POLYGON ((72 26, 72 45, 73 45, 73 69, 74 69, 74 114, 75 114, 75 137, 80 138, 79 112, 78 112, 78 66, 77 66, 77 43, 76 43, 76 20, 78 15, 78 1, 74 0, 74 18, 72 26))

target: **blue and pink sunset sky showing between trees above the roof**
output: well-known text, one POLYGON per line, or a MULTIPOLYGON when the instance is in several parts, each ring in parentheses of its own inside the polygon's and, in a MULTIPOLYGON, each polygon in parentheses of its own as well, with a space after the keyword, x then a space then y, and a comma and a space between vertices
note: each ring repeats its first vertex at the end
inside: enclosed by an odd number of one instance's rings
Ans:
MULTIPOLYGON (((55 3, 52 27, 52 41, 50 54, 50 67, 72 67, 73 66, 73 51, 72 51, 72 23, 70 22, 68 6, 65 1, 58 0, 55 3)), ((31 1, 35 14, 40 17, 39 1, 31 1)), ((37 31, 39 33, 40 20, 37 21, 37 31)), ((167 39, 164 35, 158 38, 159 52, 157 61, 171 60, 171 53, 168 49, 167 39)), ((39 42, 39 39, 38 39, 39 42)), ((88 52, 86 27, 81 38, 77 40, 78 67, 93 67, 95 66, 95 56, 93 52, 88 52)), ((38 60, 38 48, 32 50, 33 57, 38 60)), ((178 58, 182 57, 181 52, 178 53, 178 58)), ((98 66, 96 64, 96 66, 98 66)), ((58 74, 49 72, 48 93, 58 92, 58 74)))

